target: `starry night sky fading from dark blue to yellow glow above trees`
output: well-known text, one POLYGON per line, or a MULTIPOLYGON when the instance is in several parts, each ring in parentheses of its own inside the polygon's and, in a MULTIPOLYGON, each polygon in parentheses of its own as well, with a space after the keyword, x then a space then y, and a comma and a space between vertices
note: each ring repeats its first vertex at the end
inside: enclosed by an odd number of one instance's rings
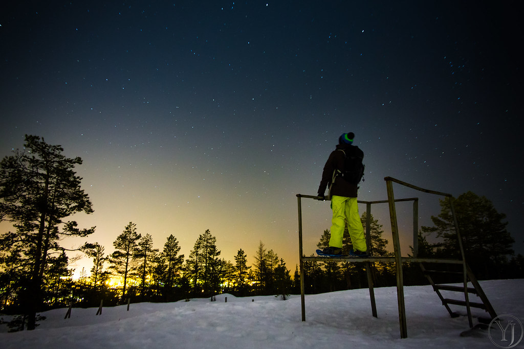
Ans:
MULTIPOLYGON (((82 157, 95 212, 74 219, 106 253, 133 221, 160 250, 173 234, 187 257, 210 229, 226 260, 253 263, 262 241, 294 271, 296 194, 316 194, 350 131, 359 199, 387 199, 385 176, 471 190, 524 253, 520 2, 93 3, 3 6, 0 156, 36 134, 82 157)), ((440 212, 438 197, 395 195, 421 198, 421 224, 440 212)), ((331 210, 303 206, 309 255, 331 210)), ((387 205, 372 213, 391 241, 387 205)), ((397 213, 407 246, 411 204, 397 213)))

